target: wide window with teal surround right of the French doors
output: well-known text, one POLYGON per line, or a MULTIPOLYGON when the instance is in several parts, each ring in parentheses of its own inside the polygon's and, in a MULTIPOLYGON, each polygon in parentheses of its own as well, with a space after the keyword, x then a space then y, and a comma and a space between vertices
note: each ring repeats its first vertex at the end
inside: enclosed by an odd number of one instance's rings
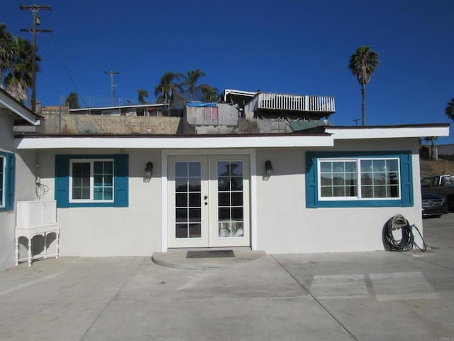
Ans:
POLYGON ((410 152, 306 153, 308 208, 413 204, 410 152))

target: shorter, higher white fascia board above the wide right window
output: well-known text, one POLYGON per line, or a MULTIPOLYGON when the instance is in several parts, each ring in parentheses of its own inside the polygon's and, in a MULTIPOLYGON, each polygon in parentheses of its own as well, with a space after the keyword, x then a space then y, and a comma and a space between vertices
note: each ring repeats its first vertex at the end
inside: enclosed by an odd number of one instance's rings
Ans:
POLYGON ((370 128, 336 128, 326 127, 328 134, 335 140, 352 139, 392 139, 421 136, 449 136, 449 126, 371 126, 370 128))

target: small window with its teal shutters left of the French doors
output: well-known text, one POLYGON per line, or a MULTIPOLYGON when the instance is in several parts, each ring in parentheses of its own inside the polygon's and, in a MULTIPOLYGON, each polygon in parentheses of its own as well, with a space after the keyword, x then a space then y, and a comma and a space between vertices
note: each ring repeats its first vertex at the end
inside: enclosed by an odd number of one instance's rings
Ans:
POLYGON ((128 177, 128 155, 57 155, 57 207, 128 207, 128 177))

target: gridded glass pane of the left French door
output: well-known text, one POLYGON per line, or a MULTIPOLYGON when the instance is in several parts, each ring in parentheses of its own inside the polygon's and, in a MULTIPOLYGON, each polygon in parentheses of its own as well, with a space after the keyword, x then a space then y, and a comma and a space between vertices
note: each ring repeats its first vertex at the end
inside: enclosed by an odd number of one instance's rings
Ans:
POLYGON ((201 163, 175 163, 175 237, 201 237, 201 163))

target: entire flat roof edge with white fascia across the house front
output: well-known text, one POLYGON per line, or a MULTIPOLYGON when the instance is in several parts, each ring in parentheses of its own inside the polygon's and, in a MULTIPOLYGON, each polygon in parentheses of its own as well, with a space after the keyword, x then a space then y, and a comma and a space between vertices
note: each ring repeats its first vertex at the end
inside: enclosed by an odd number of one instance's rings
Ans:
POLYGON ((448 136, 449 124, 402 126, 325 126, 323 131, 287 134, 152 135, 152 134, 35 134, 16 136, 18 149, 55 148, 276 148, 329 147, 335 140, 404 139, 448 136))

